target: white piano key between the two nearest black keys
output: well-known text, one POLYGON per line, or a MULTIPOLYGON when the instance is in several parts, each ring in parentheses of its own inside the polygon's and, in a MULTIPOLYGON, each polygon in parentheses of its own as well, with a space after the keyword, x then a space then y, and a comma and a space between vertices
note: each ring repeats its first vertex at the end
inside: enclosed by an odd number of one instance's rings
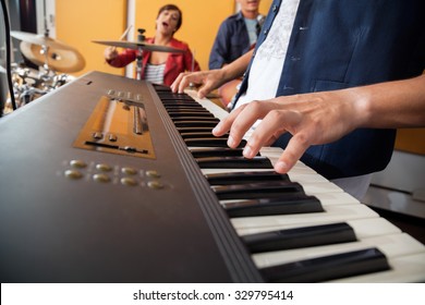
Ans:
POLYGON ((405 233, 379 235, 359 242, 254 254, 258 268, 377 247, 387 258, 425 253, 424 245, 405 233))

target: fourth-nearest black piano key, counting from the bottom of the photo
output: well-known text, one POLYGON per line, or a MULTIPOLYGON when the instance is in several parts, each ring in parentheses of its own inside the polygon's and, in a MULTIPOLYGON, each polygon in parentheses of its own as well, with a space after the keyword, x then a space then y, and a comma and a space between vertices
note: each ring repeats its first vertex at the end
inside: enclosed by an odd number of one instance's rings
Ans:
POLYGON ((220 200, 277 198, 286 193, 304 192, 300 183, 286 181, 211 186, 211 188, 220 200))

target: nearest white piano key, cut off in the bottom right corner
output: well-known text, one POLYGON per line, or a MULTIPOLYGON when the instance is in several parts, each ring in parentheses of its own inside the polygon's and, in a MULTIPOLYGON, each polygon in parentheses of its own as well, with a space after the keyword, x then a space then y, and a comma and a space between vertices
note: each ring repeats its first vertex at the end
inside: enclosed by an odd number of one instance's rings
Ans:
POLYGON ((388 259, 388 271, 338 279, 340 283, 423 283, 425 282, 425 253, 399 256, 388 259))

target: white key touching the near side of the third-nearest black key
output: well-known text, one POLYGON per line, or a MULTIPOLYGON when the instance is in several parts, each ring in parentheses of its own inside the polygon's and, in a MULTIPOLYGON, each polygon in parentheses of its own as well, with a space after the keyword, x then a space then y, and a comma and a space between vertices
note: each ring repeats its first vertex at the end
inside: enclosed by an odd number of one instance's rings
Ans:
POLYGON ((293 213, 279 216, 258 216, 232 218, 236 231, 248 228, 270 228, 281 224, 314 224, 319 221, 344 221, 378 217, 378 213, 364 205, 328 206, 324 212, 293 213))

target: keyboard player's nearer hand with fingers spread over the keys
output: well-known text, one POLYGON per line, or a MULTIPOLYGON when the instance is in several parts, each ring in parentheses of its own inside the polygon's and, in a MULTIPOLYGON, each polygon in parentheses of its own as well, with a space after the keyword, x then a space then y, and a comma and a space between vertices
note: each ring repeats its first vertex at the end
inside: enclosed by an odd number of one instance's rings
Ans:
POLYGON ((243 150, 253 158, 263 146, 272 144, 280 135, 292 134, 287 148, 275 166, 279 173, 288 172, 311 145, 339 139, 355 127, 353 103, 345 102, 355 95, 350 91, 327 91, 270 100, 251 101, 232 111, 212 131, 216 136, 230 131, 228 145, 236 147, 245 133, 257 120, 243 150))

